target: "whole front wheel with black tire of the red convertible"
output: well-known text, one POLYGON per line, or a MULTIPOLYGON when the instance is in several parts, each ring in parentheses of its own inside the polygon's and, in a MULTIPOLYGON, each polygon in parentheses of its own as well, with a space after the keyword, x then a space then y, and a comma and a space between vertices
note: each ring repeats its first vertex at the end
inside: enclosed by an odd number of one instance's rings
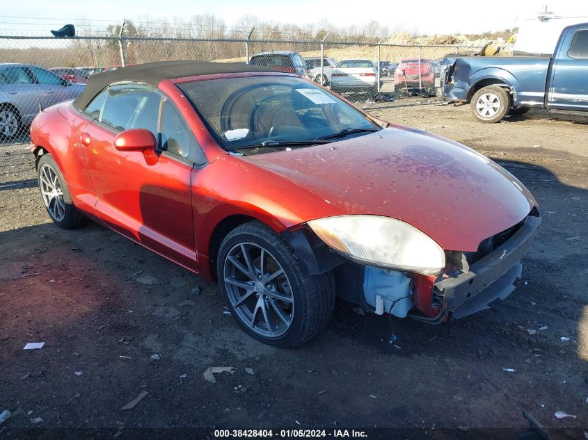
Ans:
POLYGON ((333 314, 333 274, 306 275, 292 247, 260 222, 245 223, 225 237, 217 273, 237 323, 263 343, 301 345, 324 329, 333 314))

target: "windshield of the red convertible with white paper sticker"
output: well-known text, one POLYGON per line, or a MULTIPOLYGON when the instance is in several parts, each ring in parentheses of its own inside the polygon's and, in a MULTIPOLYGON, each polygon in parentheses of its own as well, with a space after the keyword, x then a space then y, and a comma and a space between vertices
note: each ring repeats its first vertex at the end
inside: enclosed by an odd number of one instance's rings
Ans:
POLYGON ((335 95, 293 76, 191 81, 178 85, 225 149, 312 145, 381 127, 335 95))

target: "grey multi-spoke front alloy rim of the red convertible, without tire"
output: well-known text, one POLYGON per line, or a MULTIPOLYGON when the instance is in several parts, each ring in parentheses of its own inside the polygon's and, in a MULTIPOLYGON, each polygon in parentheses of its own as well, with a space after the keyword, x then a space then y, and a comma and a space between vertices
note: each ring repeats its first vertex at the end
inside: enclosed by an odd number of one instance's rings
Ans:
POLYGON ((241 323, 269 339, 288 331, 294 318, 294 295, 284 269, 270 252, 254 243, 233 246, 223 276, 241 323))

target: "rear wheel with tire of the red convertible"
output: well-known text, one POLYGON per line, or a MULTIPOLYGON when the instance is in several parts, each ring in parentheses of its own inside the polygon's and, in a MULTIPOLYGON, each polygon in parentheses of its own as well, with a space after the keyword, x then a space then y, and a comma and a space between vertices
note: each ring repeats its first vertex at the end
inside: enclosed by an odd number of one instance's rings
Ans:
POLYGON ((74 206, 54 158, 43 154, 37 166, 41 197, 51 220, 63 229, 75 229, 83 225, 86 218, 74 206))

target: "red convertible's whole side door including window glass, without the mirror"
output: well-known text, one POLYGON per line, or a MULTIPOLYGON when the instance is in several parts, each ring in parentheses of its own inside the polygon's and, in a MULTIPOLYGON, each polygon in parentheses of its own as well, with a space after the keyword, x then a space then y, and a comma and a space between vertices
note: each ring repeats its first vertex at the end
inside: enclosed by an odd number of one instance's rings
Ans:
POLYGON ((97 194, 99 218, 120 234, 194 270, 193 163, 189 153, 184 156, 185 143, 180 146, 172 134, 161 133, 168 131, 159 120, 163 100, 148 85, 111 85, 100 116, 88 124, 84 135, 86 169, 97 194), (152 131, 169 151, 154 155, 118 151, 113 146, 116 136, 133 128, 152 131))

